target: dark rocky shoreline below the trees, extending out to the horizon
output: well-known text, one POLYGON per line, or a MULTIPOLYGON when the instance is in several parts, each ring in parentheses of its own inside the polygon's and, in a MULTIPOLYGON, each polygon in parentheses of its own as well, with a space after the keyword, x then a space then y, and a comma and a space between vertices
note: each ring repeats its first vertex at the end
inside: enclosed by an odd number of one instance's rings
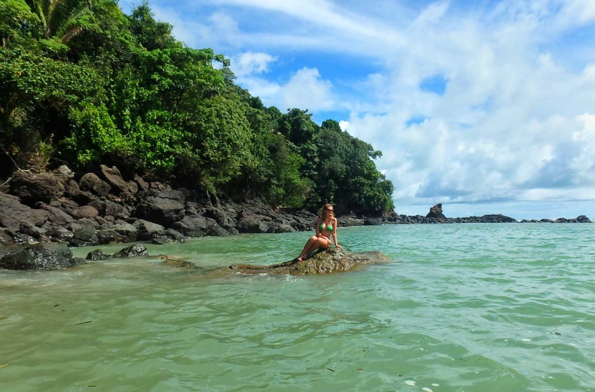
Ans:
MULTIPOLYGON (((273 208, 260 200, 242 203, 146 182, 125 180, 116 167, 101 165, 79 178, 68 167, 53 172, 15 172, 0 188, 0 255, 14 244, 65 243, 70 247, 150 241, 184 242, 186 237, 314 230, 317 216, 306 210, 273 208)), ((339 225, 518 222, 505 215, 447 218, 441 204, 422 215, 387 212, 382 217, 343 215, 339 225)), ((581 215, 555 221, 591 222, 581 215)))

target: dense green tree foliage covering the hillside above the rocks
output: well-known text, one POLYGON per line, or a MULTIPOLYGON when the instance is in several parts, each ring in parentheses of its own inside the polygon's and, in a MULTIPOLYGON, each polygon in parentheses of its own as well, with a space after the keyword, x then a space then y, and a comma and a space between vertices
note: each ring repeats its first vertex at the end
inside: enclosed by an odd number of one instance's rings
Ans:
POLYGON ((0 174, 115 164, 196 190, 381 214, 381 155, 307 110, 265 107, 229 61, 176 40, 148 4, 0 2, 0 174))

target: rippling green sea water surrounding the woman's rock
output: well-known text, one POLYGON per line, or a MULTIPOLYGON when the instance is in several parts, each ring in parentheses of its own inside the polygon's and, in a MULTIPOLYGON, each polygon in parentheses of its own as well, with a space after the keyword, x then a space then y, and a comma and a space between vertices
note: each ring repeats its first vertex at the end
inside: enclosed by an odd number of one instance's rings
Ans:
POLYGON ((148 246, 200 269, 0 271, 0 390, 595 390, 595 224, 339 228, 347 250, 392 262, 213 273, 291 259, 307 237, 148 246))

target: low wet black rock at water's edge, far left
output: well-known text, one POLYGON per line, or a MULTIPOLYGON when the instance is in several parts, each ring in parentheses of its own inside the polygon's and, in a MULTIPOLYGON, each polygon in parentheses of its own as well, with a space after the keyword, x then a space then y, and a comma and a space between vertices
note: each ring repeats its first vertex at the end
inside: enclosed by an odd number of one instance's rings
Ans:
POLYGON ((0 267, 7 269, 62 269, 81 262, 74 259, 66 244, 37 243, 27 245, 0 259, 0 267))

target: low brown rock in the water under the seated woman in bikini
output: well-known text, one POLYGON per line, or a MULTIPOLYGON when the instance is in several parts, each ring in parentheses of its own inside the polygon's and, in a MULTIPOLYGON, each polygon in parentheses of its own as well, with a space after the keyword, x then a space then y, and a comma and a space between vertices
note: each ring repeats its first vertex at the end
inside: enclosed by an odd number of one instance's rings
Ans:
POLYGON ((315 253, 303 261, 292 261, 273 265, 236 264, 230 265, 227 271, 242 274, 290 274, 311 275, 344 272, 358 265, 386 263, 389 258, 381 252, 353 253, 343 249, 331 248, 315 253))

